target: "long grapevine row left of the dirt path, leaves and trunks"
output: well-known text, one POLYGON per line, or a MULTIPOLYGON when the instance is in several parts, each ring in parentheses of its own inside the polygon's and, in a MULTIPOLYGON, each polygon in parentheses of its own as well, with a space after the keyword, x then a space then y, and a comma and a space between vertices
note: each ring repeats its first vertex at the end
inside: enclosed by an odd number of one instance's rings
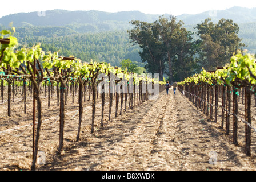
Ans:
MULTIPOLYGON (((13 28, 15 31, 15 28, 13 28)), ((137 76, 133 73, 128 73, 127 70, 122 70, 119 67, 112 67, 108 63, 96 63, 91 61, 91 63, 82 63, 81 60, 75 58, 74 56, 63 57, 59 56, 58 52, 44 52, 40 47, 40 44, 37 44, 31 48, 21 48, 17 49, 18 40, 13 35, 11 30, 2 30, 0 31, 0 68, 2 85, 7 82, 8 87, 8 115, 10 115, 10 97, 11 97, 11 84, 13 84, 14 77, 19 77, 23 79, 23 89, 24 93, 26 92, 26 84, 30 82, 33 88, 33 162, 31 169, 35 169, 35 162, 37 160, 38 154, 38 142, 40 137, 41 125, 42 125, 42 93, 41 88, 46 84, 57 84, 57 93, 59 96, 59 148, 58 152, 61 153, 63 148, 63 133, 65 126, 65 93, 67 89, 67 84, 69 81, 77 82, 79 88, 79 128, 77 134, 77 140, 79 139, 79 131, 82 121, 82 93, 85 84, 90 86, 92 93, 92 123, 91 123, 91 132, 94 132, 94 118, 95 118, 95 106, 96 106, 96 94, 97 94, 97 85, 101 82, 106 84, 101 85, 103 89, 109 89, 110 94, 110 113, 111 106, 113 101, 113 86, 111 83, 114 77, 114 84, 118 85, 117 88, 122 90, 128 90, 128 88, 133 88, 136 85, 140 88, 139 92, 143 90, 143 86, 150 85, 163 85, 164 83, 158 79, 150 78, 147 76, 137 76), (8 40, 7 43, 3 40, 8 40), (101 77, 101 80, 98 78, 101 77), (106 79, 109 78, 109 79, 106 79), (118 78, 118 79, 117 79, 118 78), (105 81, 104 81, 105 80, 105 81), (123 82, 124 81, 124 82, 123 82), (127 82, 127 84, 126 84, 127 82), (142 84, 144 83, 144 84, 142 84), (105 85, 110 85, 107 88, 105 85), (112 91, 112 92, 111 92, 112 91), (35 132, 35 101, 37 101, 37 130, 35 132)), ((156 87, 156 86, 155 86, 156 87)), ((161 86, 161 90, 162 90, 161 86)), ((30 90, 32 90, 32 88, 30 90)), ((147 88, 147 86, 146 86, 147 88)), ((159 88, 158 88, 159 89, 159 88)), ((144 89, 145 90, 145 89, 144 89)), ((50 93, 50 86, 48 93, 50 93)), ((139 97, 146 98, 148 90, 144 93, 140 93, 139 97)), ((102 102, 104 102, 104 94, 102 93, 102 102)), ((125 93, 126 94, 126 93, 125 93)), ((151 93, 149 93, 151 94, 151 93)), ((14 96, 14 94, 13 94, 14 96)), ((26 94, 23 99, 25 101, 26 108, 26 94)), ((117 105, 119 93, 116 94, 117 105)), ((126 95, 127 96, 127 95, 126 95)), ((148 95, 147 95, 148 96, 148 95)), ((123 92, 121 93, 121 101, 123 101, 123 92)), ((129 93, 131 101, 133 101, 133 93, 129 93)), ((134 94, 135 97, 135 94, 134 94)), ((50 97, 48 97, 50 99, 50 97)), ((127 98, 127 97, 126 97, 127 98)), ((50 101, 50 100, 49 100, 50 101)), ((49 102, 50 104, 50 102, 49 102)), ((133 103, 131 103, 133 105, 133 103)), ((49 105, 50 106, 50 105, 49 105)), ((102 113, 103 113, 102 104, 102 113)), ((25 109, 26 112, 26 109, 25 109)), ((115 111, 117 115, 117 110, 115 111)))

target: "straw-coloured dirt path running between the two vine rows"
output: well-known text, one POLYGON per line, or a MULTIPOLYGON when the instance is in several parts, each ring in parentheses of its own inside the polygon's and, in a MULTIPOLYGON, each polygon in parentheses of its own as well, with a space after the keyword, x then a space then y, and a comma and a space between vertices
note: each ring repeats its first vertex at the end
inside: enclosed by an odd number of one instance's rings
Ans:
POLYGON ((241 146, 177 92, 161 93, 75 143, 39 170, 255 170, 241 146), (216 162, 215 164, 210 164, 216 162))

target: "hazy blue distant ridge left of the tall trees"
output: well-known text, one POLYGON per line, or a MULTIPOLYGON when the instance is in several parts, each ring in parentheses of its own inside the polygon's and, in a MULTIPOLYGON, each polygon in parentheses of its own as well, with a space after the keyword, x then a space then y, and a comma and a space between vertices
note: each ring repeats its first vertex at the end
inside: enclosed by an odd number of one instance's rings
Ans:
POLYGON ((154 21, 158 15, 144 14, 140 11, 120 11, 109 13, 105 11, 67 11, 67 10, 47 10, 42 12, 17 13, 6 15, 0 18, 0 24, 8 26, 13 22, 14 26, 21 27, 21 22, 33 24, 33 26, 66 26, 73 23, 99 23, 106 21, 129 22, 139 18, 143 21, 154 21))

